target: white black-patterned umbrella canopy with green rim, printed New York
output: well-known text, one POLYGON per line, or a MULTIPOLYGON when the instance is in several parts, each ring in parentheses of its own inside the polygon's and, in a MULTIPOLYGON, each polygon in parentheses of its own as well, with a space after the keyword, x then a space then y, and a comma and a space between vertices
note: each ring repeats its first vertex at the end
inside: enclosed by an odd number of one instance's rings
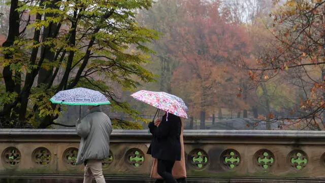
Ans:
POLYGON ((102 93, 78 87, 74 89, 63 90, 55 94, 50 101, 54 104, 66 105, 105 105, 111 104, 102 93))

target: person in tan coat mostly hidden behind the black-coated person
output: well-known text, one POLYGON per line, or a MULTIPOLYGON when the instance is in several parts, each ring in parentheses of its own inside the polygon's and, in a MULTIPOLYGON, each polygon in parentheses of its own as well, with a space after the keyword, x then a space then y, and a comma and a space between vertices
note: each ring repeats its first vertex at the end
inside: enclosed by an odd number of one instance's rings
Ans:
MULTIPOLYGON (((159 125, 160 118, 155 118, 154 123, 159 125)), ((178 183, 186 183, 186 168, 185 168, 185 151, 184 151, 184 139, 183 139, 183 120, 181 120, 182 130, 180 134, 180 144, 181 144, 181 160, 176 161, 172 170, 173 177, 178 183)), ((151 167, 150 177, 156 179, 155 183, 163 183, 164 179, 157 173, 157 159, 153 158, 153 163, 151 167)))

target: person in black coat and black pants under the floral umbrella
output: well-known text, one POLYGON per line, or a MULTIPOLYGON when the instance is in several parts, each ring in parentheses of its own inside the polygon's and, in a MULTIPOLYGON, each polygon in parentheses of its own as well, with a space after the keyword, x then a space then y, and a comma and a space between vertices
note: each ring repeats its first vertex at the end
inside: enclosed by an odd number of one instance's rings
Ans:
POLYGON ((160 123, 150 122, 148 127, 153 137, 147 153, 158 160, 157 173, 166 183, 177 183, 172 169, 175 161, 181 160, 180 117, 166 113, 160 123))

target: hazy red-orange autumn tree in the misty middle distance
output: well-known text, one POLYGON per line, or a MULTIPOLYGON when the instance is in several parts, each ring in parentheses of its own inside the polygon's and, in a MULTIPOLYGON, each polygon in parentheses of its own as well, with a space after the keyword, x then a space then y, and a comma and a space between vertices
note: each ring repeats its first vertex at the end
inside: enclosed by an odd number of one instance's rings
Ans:
POLYGON ((188 93, 190 113, 234 106, 240 108, 235 93, 241 72, 232 66, 239 55, 248 55, 245 28, 230 21, 230 12, 221 2, 181 1, 184 16, 173 26, 170 54, 180 64, 174 71, 174 88, 188 93))

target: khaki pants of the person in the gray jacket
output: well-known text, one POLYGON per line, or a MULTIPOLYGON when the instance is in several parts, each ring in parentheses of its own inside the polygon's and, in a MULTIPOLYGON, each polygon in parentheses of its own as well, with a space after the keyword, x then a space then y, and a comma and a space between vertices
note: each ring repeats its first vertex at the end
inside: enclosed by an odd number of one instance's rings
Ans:
POLYGON ((83 183, 91 183, 92 178, 96 180, 96 183, 106 183, 101 160, 87 160, 83 183))

